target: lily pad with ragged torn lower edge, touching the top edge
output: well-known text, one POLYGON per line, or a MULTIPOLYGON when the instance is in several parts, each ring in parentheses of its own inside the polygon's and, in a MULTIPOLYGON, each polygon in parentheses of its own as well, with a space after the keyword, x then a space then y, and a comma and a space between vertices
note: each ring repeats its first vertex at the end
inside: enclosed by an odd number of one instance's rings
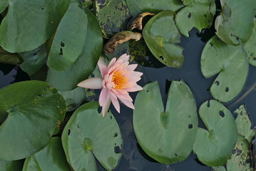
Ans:
POLYGON ((188 32, 194 27, 200 32, 204 28, 210 28, 215 12, 216 5, 214 0, 196 0, 196 4, 190 4, 190 6, 182 8, 177 13, 175 17, 176 26, 181 34, 189 37, 188 32))

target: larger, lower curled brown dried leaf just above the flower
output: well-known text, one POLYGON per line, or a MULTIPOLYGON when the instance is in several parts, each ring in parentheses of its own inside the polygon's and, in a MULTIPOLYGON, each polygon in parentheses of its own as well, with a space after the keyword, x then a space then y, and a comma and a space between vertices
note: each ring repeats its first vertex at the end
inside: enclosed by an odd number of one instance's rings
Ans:
POLYGON ((118 44, 127 42, 131 39, 138 41, 142 38, 141 33, 131 32, 131 31, 122 31, 115 34, 103 47, 103 52, 105 55, 111 54, 115 51, 118 44))

